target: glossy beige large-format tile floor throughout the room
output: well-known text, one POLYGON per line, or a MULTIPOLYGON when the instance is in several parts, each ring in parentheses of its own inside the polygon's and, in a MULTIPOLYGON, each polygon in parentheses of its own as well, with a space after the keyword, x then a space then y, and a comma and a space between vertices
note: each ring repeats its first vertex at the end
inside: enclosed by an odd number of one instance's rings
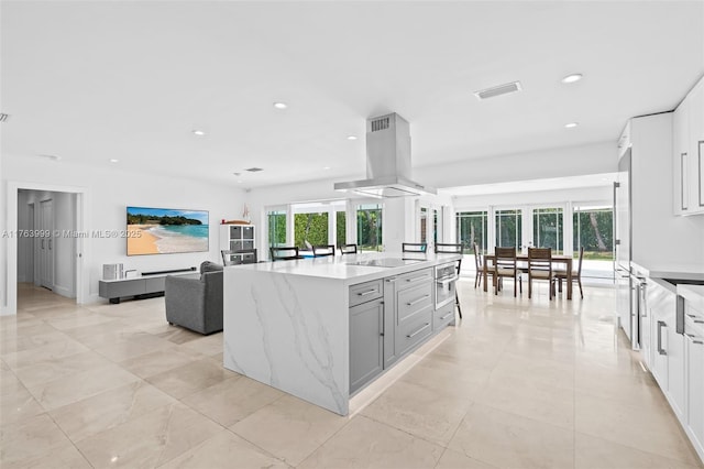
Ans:
MULTIPOLYGON (((510 290, 510 288, 509 288, 510 290)), ((77 306, 21 285, 0 318, 0 466, 10 468, 702 468, 614 293, 499 296, 352 418, 221 366, 222 335, 164 299, 77 306)))

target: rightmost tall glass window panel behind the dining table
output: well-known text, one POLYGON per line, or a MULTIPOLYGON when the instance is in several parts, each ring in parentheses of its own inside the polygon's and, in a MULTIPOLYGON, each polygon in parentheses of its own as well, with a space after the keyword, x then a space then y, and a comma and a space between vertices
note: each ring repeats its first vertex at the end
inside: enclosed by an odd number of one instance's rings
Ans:
POLYGON ((574 258, 584 247, 582 276, 614 275, 614 210, 612 207, 575 207, 572 216, 574 258))

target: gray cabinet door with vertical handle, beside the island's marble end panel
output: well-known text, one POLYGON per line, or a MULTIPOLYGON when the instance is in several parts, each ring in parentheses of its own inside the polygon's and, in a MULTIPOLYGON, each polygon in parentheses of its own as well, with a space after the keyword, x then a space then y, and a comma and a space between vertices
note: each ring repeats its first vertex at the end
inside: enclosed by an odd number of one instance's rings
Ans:
POLYGON ((350 308, 350 393, 384 369, 384 302, 374 299, 350 308))

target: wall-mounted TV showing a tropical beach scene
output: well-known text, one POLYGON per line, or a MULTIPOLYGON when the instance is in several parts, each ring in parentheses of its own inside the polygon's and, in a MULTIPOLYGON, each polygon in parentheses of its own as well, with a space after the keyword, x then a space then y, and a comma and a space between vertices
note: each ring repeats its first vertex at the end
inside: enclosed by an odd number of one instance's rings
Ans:
POLYGON ((208 251, 208 211, 128 207, 128 255, 208 251))

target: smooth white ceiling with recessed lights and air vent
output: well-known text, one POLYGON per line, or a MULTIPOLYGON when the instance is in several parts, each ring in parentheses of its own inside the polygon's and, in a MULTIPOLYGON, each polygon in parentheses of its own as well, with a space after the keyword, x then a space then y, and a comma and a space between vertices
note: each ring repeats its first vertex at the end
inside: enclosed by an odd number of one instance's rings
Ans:
POLYGON ((415 167, 615 142, 704 74, 702 1, 0 8, 3 154, 242 187, 362 176, 365 120, 391 111, 410 122, 415 167), (472 94, 514 80, 521 92, 472 94), (251 166, 265 171, 232 174, 251 166))

